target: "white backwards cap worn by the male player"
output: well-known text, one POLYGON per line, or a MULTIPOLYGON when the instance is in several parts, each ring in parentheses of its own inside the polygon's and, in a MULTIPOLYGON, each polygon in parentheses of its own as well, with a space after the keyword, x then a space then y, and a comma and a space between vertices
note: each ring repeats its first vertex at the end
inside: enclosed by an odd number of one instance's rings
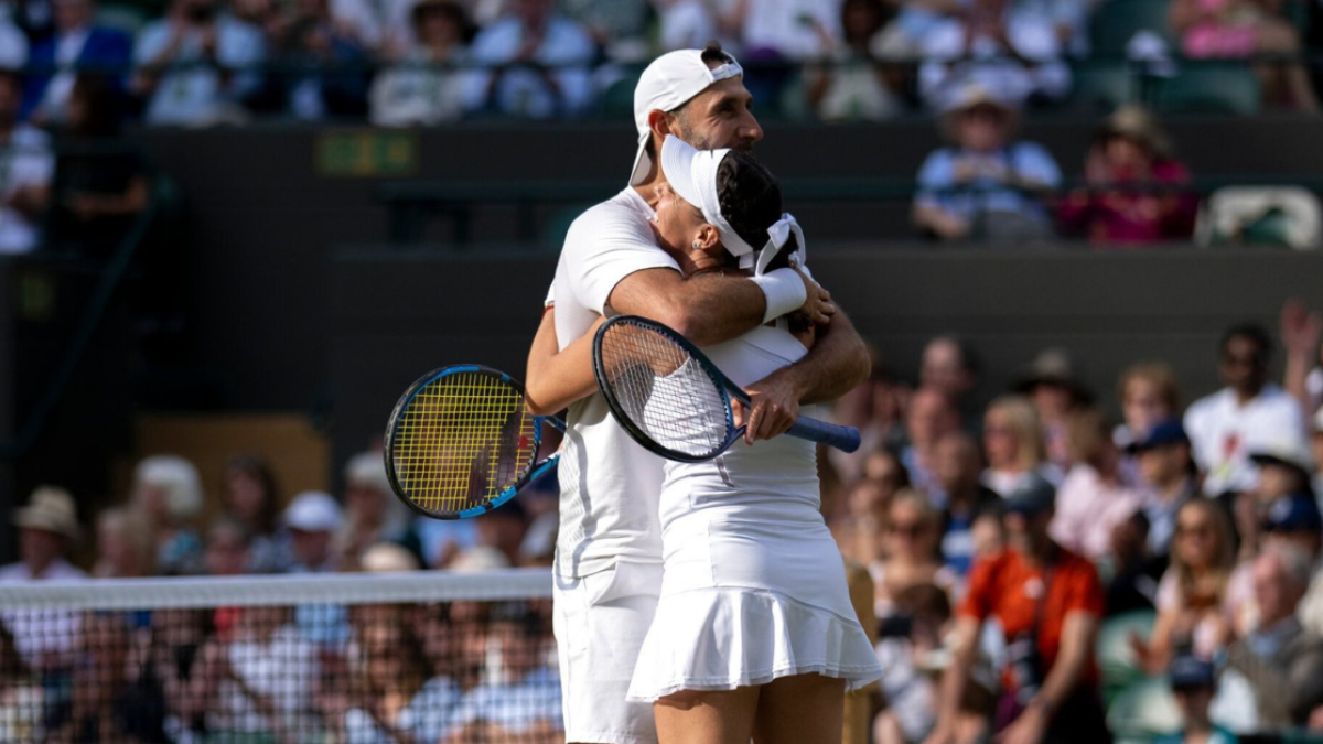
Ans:
POLYGON ((680 49, 667 52, 652 61, 639 85, 634 87, 634 126, 639 130, 639 151, 634 156, 634 169, 630 171, 630 185, 638 185, 652 167, 647 155, 648 114, 652 111, 675 111, 691 98, 706 90, 712 83, 744 75, 740 62, 722 52, 728 62, 712 69, 703 61, 701 49, 680 49))

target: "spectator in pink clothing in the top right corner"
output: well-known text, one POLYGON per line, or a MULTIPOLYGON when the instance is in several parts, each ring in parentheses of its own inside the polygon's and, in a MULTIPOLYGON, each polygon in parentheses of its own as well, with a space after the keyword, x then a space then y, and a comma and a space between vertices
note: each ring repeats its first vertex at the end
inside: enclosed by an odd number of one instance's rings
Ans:
MULTIPOLYGON (((1174 0, 1168 9, 1172 30, 1180 34, 1180 48, 1192 58, 1250 60, 1256 54, 1301 53, 1295 28, 1277 13, 1279 4, 1256 0, 1174 0)), ((1257 65, 1265 99, 1316 111, 1318 97, 1310 83, 1308 68, 1299 61, 1257 65)))

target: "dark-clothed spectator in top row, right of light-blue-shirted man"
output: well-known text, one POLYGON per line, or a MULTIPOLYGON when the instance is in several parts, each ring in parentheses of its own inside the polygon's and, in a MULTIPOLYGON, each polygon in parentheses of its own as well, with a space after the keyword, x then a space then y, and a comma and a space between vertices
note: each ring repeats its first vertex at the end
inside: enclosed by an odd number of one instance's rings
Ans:
POLYGON ((306 122, 365 113, 366 54, 331 17, 329 0, 296 0, 288 25, 271 41, 286 68, 267 75, 263 103, 306 122))

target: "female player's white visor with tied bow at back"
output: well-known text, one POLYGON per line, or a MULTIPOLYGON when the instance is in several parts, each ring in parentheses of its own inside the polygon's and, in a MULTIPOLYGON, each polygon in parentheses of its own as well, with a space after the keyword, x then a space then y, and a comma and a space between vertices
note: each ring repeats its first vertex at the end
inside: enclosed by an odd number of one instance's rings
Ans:
POLYGON ((740 258, 741 269, 754 267, 754 274, 762 275, 767 263, 785 248, 791 234, 799 238, 799 244, 790 261, 795 266, 802 265, 804 234, 792 216, 782 214, 781 220, 767 228, 767 244, 758 250, 745 242, 726 222, 717 193, 717 168, 729 154, 730 150, 695 150, 680 138, 667 135, 665 142, 662 143, 662 172, 665 173, 667 183, 680 195, 680 199, 697 207, 703 212, 703 218, 717 228, 721 245, 732 256, 740 258), (755 261, 757 267, 754 266, 755 261))

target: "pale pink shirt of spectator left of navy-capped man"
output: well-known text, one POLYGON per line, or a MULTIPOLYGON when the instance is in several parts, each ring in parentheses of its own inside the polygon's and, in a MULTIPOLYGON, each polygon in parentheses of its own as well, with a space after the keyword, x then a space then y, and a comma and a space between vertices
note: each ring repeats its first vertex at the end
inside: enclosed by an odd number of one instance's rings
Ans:
POLYGON ((1076 465, 1057 488, 1057 515, 1048 534, 1064 548, 1098 563, 1111 555, 1111 534, 1143 504, 1138 490, 1105 482, 1089 465, 1076 465))

